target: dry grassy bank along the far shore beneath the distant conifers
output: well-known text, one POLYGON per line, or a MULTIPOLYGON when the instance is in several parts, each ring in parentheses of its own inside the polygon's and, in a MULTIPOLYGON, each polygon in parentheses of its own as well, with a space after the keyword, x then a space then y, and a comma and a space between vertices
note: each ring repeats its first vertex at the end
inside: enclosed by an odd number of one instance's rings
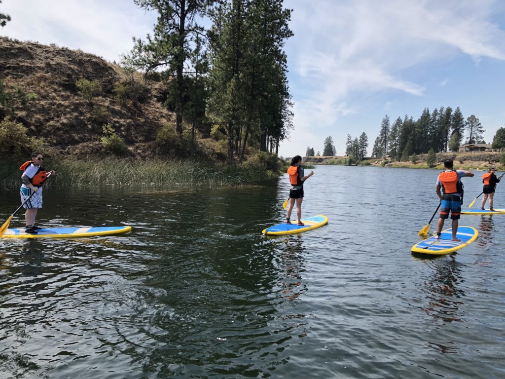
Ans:
POLYGON ((428 163, 428 154, 412 156, 407 161, 395 161, 390 157, 364 158, 355 161, 352 157, 304 157, 304 163, 310 165, 338 165, 338 166, 375 166, 393 168, 426 168, 443 170, 443 161, 452 159, 455 167, 465 170, 487 170, 496 167, 505 170, 505 152, 474 152, 474 153, 437 153, 435 158, 428 163))

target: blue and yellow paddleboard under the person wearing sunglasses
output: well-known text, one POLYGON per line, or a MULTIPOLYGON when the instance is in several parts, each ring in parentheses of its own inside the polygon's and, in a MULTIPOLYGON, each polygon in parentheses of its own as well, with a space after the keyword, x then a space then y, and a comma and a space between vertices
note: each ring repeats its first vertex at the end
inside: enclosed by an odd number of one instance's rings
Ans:
POLYGON ((2 238, 69 238, 90 237, 93 235, 108 235, 126 233, 131 226, 104 226, 83 228, 47 228, 38 230, 37 234, 25 233, 24 228, 7 229, 2 238))

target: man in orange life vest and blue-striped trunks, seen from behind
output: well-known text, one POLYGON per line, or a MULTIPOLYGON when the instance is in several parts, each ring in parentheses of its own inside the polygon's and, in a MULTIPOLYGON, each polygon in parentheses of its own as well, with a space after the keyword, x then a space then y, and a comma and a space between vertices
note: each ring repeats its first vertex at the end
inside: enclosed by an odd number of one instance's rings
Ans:
POLYGON ((440 199, 440 218, 437 223, 437 233, 435 239, 439 239, 444 221, 449 218, 452 220, 452 241, 460 241, 456 237, 458 224, 461 214, 461 203, 463 199, 463 183, 461 178, 465 176, 474 176, 473 172, 453 169, 454 164, 451 159, 446 159, 443 163, 445 171, 442 171, 437 178, 436 192, 440 199), (443 195, 440 193, 442 188, 443 195))

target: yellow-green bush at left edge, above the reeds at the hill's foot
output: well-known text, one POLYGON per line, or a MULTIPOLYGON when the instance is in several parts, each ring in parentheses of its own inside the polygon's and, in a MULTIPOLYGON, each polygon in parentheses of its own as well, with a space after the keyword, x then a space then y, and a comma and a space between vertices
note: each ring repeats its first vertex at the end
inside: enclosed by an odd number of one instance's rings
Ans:
POLYGON ((33 151, 47 152, 48 145, 41 137, 28 136, 26 127, 6 117, 0 122, 0 155, 9 158, 29 156, 33 151))

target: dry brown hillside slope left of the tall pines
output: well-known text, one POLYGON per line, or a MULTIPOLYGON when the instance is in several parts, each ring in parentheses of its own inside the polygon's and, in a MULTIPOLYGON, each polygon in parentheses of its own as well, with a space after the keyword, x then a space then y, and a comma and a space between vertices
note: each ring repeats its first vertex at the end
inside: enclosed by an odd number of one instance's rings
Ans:
POLYGON ((17 108, 16 120, 63 154, 99 151, 104 120, 139 156, 152 153, 156 132, 164 123, 175 125, 174 115, 163 107, 160 83, 146 83, 136 75, 142 96, 120 102, 114 83, 125 80, 124 71, 79 50, 0 37, 0 80, 36 94, 35 101, 17 108), (77 92, 76 81, 82 78, 96 79, 103 88, 93 104, 77 92))

